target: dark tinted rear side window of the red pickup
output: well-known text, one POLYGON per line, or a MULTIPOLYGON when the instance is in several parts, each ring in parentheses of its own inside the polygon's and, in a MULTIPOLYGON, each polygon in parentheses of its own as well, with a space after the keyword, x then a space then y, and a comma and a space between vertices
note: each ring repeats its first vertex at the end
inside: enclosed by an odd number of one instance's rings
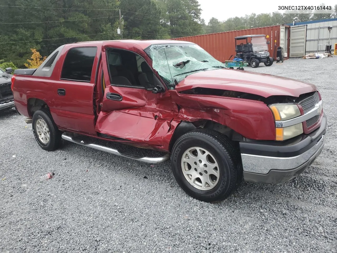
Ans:
POLYGON ((96 47, 72 48, 65 57, 61 79, 90 82, 96 47))

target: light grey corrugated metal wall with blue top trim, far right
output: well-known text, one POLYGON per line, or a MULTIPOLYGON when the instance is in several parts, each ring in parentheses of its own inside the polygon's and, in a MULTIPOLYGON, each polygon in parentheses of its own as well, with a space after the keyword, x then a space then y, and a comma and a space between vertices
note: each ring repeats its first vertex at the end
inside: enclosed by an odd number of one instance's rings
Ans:
POLYGON ((328 26, 332 26, 330 45, 334 48, 334 44, 337 43, 337 20, 307 24, 306 54, 315 53, 317 49, 325 51, 329 41, 328 26))

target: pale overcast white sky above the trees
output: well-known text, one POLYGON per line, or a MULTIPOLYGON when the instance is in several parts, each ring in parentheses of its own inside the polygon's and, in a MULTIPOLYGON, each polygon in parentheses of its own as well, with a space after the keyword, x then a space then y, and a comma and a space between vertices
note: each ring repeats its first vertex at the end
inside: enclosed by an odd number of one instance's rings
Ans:
MULTIPOLYGON (((228 18, 244 17, 246 14, 256 13, 272 13, 278 10, 279 5, 304 5, 317 6, 324 3, 326 6, 331 5, 332 8, 337 4, 337 0, 198 0, 201 4, 201 17, 205 19, 205 23, 214 17, 219 21, 228 18)), ((282 12, 282 11, 281 11, 282 12)))

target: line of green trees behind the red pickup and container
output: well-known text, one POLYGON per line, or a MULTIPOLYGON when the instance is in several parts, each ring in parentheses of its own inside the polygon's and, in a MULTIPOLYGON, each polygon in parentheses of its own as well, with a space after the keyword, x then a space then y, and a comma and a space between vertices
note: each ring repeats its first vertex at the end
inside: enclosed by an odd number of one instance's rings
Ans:
POLYGON ((168 39, 287 24, 295 16, 299 22, 337 18, 337 5, 334 14, 252 13, 207 24, 201 12, 197 0, 3 0, 0 63, 24 67, 31 49, 44 57, 78 41, 168 39))

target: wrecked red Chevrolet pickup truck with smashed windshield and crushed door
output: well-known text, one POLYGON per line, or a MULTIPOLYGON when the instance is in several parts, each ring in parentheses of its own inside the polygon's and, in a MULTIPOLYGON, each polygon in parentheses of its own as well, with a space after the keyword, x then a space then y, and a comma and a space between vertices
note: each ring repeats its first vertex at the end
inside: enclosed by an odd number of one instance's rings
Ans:
POLYGON ((325 142, 315 85, 225 68, 184 41, 63 45, 37 69, 17 69, 11 87, 41 148, 63 139, 142 162, 171 159, 180 187, 207 202, 231 195, 242 178, 295 177, 325 142), (144 157, 111 141, 164 153, 144 157))

